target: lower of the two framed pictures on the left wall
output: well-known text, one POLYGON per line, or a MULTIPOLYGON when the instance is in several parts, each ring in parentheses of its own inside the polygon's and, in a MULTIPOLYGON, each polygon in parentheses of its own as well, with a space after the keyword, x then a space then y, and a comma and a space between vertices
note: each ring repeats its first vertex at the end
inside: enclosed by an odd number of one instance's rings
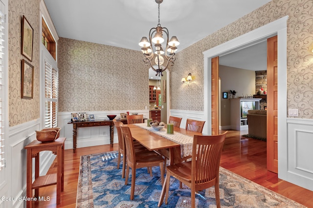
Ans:
POLYGON ((34 91, 34 67, 22 59, 21 97, 32 99, 34 91))

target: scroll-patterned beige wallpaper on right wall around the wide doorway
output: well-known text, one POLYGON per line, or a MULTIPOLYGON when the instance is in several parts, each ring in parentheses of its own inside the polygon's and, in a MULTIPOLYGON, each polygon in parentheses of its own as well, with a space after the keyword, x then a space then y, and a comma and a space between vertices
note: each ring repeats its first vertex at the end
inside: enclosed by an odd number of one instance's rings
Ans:
POLYGON ((298 108, 300 118, 312 119, 313 53, 308 50, 313 43, 312 0, 273 0, 179 52, 171 69, 171 109, 204 110, 202 52, 287 15, 288 108, 298 108), (186 89, 179 80, 188 73, 196 79, 186 89))

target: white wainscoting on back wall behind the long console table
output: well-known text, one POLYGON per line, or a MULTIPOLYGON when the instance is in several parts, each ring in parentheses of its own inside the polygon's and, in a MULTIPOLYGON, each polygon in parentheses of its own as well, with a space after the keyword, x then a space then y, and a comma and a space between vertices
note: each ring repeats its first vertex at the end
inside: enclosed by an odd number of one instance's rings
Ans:
MULTIPOLYGON (((117 115, 120 117, 120 113, 126 113, 127 111, 97 111, 86 112, 86 117, 89 118, 90 114, 94 114, 95 120, 108 120, 107 115, 117 115)), ((138 113, 143 114, 143 117, 149 118, 149 110, 134 110, 128 111, 130 114, 138 113)), ((61 128, 60 136, 66 137, 65 149, 73 148, 73 125, 67 124, 71 119, 71 113, 77 112, 59 112, 58 114, 58 126, 61 128)), ((84 112, 85 113, 85 112, 84 112)), ((118 142, 116 128, 114 127, 113 143, 118 142)), ((98 146, 110 144, 110 126, 99 127, 84 127, 77 129, 77 148, 98 146)))

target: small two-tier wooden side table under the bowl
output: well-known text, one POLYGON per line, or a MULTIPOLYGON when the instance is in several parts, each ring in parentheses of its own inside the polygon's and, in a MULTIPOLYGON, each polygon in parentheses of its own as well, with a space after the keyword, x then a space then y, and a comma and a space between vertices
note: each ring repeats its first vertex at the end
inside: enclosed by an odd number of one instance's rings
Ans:
MULTIPOLYGON (((34 140, 24 147, 27 150, 27 198, 32 198, 32 189, 35 189, 34 197, 39 197, 39 188, 57 185, 57 205, 61 203, 61 191, 64 190, 64 142, 65 137, 59 137, 54 142, 42 143, 34 140), (57 155, 57 173, 39 176, 39 152, 52 151, 57 155), (32 182, 32 158, 35 158, 35 180, 32 182)), ((26 207, 31 208, 33 200, 27 200, 26 207)))

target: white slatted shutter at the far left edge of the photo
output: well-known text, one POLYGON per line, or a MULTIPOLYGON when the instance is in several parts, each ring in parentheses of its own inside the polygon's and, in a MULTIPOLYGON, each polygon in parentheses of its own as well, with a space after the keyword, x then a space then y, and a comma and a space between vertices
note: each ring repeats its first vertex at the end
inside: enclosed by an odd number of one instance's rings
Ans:
POLYGON ((4 15, 0 12, 0 170, 4 167, 4 15))

